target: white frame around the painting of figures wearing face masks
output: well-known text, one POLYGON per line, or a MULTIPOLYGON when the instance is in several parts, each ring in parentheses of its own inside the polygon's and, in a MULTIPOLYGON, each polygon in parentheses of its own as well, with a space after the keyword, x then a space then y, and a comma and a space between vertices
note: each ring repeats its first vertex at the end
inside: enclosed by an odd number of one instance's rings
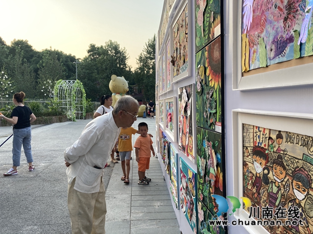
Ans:
MULTIPOLYGON (((255 111, 236 109, 232 110, 233 127, 233 195, 243 197, 243 124, 261 126, 268 129, 277 129, 311 136, 313 129, 313 114, 298 114, 288 112, 255 111)), ((241 207, 234 217, 245 222, 249 214, 241 207)), ((268 234, 261 226, 244 226, 251 234, 268 234)))

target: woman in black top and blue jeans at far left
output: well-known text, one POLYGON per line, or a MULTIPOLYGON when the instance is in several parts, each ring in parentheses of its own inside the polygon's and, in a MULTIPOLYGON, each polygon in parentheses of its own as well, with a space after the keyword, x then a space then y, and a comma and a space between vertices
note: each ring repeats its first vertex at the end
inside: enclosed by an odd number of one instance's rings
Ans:
POLYGON ((23 104, 25 94, 23 92, 13 95, 13 103, 16 107, 12 110, 11 118, 0 115, 0 119, 5 119, 13 126, 13 166, 3 176, 18 175, 18 167, 21 163, 22 146, 28 162, 28 171, 34 170, 33 156, 31 153, 31 127, 30 123, 36 120, 36 116, 32 113, 28 106, 23 104))

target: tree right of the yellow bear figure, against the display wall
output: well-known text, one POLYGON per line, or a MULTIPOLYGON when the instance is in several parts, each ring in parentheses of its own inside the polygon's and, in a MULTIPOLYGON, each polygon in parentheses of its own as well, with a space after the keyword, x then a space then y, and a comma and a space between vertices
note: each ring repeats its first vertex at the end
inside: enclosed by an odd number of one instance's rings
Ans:
POLYGON ((154 100, 156 96, 156 35, 146 42, 136 63, 138 67, 134 71, 134 79, 138 88, 143 91, 146 100, 154 100))

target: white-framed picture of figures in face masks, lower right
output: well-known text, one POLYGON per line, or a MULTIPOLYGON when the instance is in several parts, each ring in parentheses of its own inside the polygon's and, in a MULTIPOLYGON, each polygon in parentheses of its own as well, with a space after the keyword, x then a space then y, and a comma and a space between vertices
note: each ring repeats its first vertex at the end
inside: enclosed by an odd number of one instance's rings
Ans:
POLYGON ((250 225, 247 231, 308 233, 313 229, 313 115, 238 109, 232 116, 234 196, 251 202, 235 217, 263 221, 266 217, 252 214, 257 207, 280 207, 286 211, 279 218, 283 225, 250 225), (295 206, 303 226, 286 223, 289 209, 295 206))

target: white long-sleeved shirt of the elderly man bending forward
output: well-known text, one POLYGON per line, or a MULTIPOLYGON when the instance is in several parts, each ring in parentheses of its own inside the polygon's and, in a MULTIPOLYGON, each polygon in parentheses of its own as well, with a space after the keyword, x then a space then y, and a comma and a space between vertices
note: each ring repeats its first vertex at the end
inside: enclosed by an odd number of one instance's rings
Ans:
POLYGON ((76 177, 75 190, 87 194, 99 192, 103 168, 120 131, 112 112, 96 117, 86 125, 79 139, 64 152, 65 160, 71 163, 67 168, 68 184, 76 177))

